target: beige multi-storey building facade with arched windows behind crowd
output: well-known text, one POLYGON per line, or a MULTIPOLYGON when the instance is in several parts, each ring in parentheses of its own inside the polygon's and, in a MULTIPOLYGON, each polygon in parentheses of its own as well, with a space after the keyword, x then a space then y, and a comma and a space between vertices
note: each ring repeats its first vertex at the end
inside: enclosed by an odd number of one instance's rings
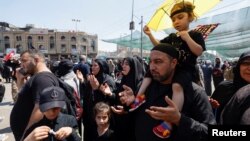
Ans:
POLYGON ((49 60, 59 60, 61 57, 77 60, 79 55, 93 58, 98 53, 98 36, 34 28, 33 25, 17 28, 0 22, 0 56, 10 50, 21 53, 27 49, 37 49, 49 60))

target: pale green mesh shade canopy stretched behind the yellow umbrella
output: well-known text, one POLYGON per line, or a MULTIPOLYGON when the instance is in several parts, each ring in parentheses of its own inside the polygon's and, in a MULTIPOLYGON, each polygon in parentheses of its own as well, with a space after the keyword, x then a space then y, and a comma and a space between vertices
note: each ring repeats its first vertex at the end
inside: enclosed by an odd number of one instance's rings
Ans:
MULTIPOLYGON (((250 50, 250 7, 198 19, 191 24, 191 29, 198 25, 220 23, 206 40, 207 50, 216 51, 224 58, 239 57, 241 53, 250 50)), ((174 29, 165 30, 167 34, 176 32, 174 29)), ((104 40, 125 47, 140 48, 141 33, 133 32, 131 36, 104 40)), ((142 37, 143 49, 150 50, 152 43, 146 35, 142 37)))

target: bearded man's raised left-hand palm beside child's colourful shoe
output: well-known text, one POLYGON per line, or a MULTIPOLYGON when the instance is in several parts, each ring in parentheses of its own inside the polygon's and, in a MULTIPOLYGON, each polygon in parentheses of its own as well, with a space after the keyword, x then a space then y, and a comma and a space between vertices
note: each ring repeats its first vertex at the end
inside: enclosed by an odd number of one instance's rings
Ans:
POLYGON ((130 87, 126 85, 123 85, 122 87, 124 91, 119 93, 120 101, 122 104, 126 104, 127 106, 129 106, 135 100, 134 92, 130 87))

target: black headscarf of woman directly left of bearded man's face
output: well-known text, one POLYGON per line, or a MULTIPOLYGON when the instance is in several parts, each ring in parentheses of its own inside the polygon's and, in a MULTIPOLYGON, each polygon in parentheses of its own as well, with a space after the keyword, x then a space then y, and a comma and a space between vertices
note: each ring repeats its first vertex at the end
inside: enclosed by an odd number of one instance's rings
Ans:
POLYGON ((123 75, 122 80, 121 80, 121 86, 122 85, 127 85, 134 92, 137 92, 137 90, 140 87, 141 81, 143 79, 143 65, 140 63, 140 61, 136 57, 127 57, 124 58, 123 62, 127 60, 130 71, 128 72, 127 75, 123 75))

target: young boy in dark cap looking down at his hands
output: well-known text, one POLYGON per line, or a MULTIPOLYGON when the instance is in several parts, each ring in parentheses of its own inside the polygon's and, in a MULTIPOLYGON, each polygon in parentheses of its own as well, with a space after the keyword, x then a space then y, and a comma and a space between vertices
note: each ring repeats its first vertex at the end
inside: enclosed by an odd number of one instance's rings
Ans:
POLYGON ((24 141, 80 141, 76 117, 60 113, 65 104, 63 89, 56 86, 44 89, 39 101, 44 117, 25 132, 24 141))

